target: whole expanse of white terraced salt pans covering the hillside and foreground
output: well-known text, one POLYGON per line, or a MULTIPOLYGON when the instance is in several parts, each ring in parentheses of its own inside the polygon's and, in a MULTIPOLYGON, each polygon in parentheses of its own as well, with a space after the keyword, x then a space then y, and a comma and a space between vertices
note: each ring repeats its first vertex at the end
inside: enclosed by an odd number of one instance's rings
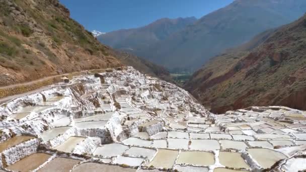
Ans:
POLYGON ((297 171, 306 113, 250 107, 215 115, 184 90, 132 67, 3 104, 8 171, 297 171))

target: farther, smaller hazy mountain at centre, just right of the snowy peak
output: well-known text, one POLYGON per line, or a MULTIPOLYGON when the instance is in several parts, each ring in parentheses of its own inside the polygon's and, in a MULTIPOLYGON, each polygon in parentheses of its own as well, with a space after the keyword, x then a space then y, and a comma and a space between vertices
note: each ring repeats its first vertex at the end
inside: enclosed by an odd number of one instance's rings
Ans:
POLYGON ((194 23, 195 17, 169 19, 163 18, 147 26, 135 29, 122 29, 98 36, 98 40, 116 49, 130 51, 138 56, 143 48, 166 39, 172 33, 194 23))

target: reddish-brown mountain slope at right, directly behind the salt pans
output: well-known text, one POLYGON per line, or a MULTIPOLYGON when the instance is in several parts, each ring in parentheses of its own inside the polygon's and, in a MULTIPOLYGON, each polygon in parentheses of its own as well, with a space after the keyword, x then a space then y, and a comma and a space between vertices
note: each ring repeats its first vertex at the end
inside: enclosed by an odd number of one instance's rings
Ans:
POLYGON ((212 112, 282 105, 306 110, 306 15, 212 58, 184 85, 212 112))

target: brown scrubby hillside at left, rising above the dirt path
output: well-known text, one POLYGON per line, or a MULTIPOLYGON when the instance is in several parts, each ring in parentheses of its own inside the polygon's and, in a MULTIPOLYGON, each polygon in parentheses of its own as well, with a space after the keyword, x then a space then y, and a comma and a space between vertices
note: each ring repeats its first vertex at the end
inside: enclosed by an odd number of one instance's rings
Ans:
MULTIPOLYGON (((122 64, 139 68, 121 63, 120 55, 69 18, 57 0, 0 0, 0 86, 122 64)), ((134 58, 146 66, 143 72, 157 76, 151 70, 164 70, 134 58)))

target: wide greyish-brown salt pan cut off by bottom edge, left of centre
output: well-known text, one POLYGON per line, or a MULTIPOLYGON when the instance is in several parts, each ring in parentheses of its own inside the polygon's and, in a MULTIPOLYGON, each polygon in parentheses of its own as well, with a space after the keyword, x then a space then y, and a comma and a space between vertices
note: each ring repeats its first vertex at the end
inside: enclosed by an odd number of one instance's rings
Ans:
POLYGON ((109 165, 109 164, 101 164, 101 163, 94 163, 94 162, 87 162, 82 163, 72 170, 73 172, 84 172, 84 171, 91 171, 91 172, 135 172, 136 169, 134 168, 123 168, 118 165, 109 165))

